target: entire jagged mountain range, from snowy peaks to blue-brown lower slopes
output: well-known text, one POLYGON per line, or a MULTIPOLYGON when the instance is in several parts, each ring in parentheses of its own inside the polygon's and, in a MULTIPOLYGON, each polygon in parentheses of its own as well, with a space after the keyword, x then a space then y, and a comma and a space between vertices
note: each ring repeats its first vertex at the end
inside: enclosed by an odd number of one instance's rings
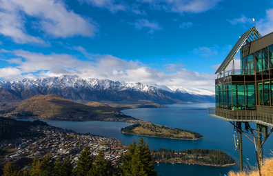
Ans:
MULTIPOLYGON (((167 86, 165 86, 167 87, 167 86)), ((34 95, 59 95, 77 102, 125 101, 154 103, 212 102, 214 95, 199 95, 183 88, 170 90, 141 83, 82 79, 77 75, 22 81, 0 81, 0 102, 19 102, 34 95)))

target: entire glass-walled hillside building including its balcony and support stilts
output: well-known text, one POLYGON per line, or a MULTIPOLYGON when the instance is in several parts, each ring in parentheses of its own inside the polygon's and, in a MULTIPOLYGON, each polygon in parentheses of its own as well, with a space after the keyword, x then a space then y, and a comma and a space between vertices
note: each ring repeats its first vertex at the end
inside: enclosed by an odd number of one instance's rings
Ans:
MULTIPOLYGON (((256 148, 258 166, 263 162, 263 144, 273 132, 273 32, 261 36, 255 27, 247 30, 216 70, 215 108, 208 115, 234 126, 234 145, 240 151, 240 170, 243 172, 242 133, 256 148), (240 52, 241 68, 235 70, 234 57, 240 52), (225 71, 228 66, 232 70, 225 71), (250 122, 256 123, 256 130, 250 122), (245 128, 243 129, 242 126, 245 128), (269 128, 271 127, 271 128, 269 128), (250 130, 251 133, 248 133, 250 130), (256 132, 256 135, 254 134, 256 132), (254 138, 252 138, 254 137, 254 138), (252 139, 254 140, 252 140, 252 139)), ((260 167, 259 167, 260 169, 260 167)), ((260 170, 261 171, 261 170, 260 170)))

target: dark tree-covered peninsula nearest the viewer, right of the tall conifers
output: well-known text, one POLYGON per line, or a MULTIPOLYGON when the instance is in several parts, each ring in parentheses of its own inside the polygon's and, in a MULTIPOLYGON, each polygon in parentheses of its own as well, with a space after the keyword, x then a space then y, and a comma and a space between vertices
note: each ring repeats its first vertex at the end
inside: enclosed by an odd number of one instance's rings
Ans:
POLYGON ((236 163, 228 154, 221 150, 208 149, 186 149, 186 150, 170 150, 159 148, 159 150, 151 149, 152 162, 171 162, 182 164, 198 164, 206 166, 232 166, 236 163))

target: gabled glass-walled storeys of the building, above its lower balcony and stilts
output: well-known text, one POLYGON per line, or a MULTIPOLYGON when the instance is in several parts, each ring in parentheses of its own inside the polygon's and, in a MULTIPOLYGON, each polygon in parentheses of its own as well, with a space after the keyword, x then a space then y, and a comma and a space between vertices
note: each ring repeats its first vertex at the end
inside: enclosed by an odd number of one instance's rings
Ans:
POLYGON ((267 113, 273 113, 273 32, 261 37, 254 27, 250 30, 244 43, 236 43, 240 47, 236 49, 240 51, 241 69, 235 70, 233 66, 225 72, 227 66, 222 66, 223 63, 233 61, 228 57, 230 60, 225 59, 220 66, 215 80, 216 109, 263 111, 267 107, 267 113))

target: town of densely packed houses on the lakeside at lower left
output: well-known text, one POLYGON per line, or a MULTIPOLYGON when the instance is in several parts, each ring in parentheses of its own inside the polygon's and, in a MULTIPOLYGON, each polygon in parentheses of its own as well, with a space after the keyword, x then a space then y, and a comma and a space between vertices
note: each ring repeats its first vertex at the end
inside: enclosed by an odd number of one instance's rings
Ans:
POLYGON ((19 159, 21 157, 44 157, 50 155, 53 159, 57 157, 70 157, 76 166, 81 151, 88 146, 92 157, 98 155, 99 150, 105 154, 105 159, 112 162, 114 166, 119 162, 121 155, 127 152, 127 146, 123 146, 119 139, 101 137, 96 135, 82 135, 72 130, 64 130, 54 126, 35 126, 30 130, 37 130, 43 136, 32 139, 18 138, 12 141, 2 141, 0 149, 12 148, 14 153, 6 156, 7 159, 19 159))

